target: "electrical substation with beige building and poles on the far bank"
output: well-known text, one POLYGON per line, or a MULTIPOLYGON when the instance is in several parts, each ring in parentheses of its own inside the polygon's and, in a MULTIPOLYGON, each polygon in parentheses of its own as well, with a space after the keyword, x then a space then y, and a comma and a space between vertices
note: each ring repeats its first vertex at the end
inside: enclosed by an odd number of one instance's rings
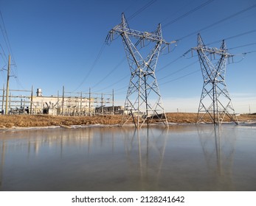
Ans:
POLYGON ((0 90, 1 115, 49 114, 54 116, 94 116, 122 114, 123 107, 114 106, 114 92, 83 93, 66 92, 57 96, 43 96, 42 90, 0 90), (7 99, 7 101, 6 101, 7 99), (5 107, 7 105, 7 107, 5 107))

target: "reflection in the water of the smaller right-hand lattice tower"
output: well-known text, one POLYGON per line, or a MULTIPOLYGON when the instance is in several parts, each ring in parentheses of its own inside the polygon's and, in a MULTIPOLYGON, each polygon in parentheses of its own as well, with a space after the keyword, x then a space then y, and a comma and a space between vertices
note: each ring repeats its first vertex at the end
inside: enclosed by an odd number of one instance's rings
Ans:
POLYGON ((234 191, 232 170, 236 141, 235 129, 214 126, 212 132, 206 134, 202 127, 198 127, 198 136, 209 179, 212 179, 209 181, 212 190, 234 191))

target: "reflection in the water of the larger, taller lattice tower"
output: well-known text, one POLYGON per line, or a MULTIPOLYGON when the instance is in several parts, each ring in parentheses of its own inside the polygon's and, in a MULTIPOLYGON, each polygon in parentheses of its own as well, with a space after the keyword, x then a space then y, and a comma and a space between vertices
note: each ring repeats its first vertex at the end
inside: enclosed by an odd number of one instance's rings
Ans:
POLYGON ((142 191, 159 190, 162 164, 168 138, 168 128, 135 129, 133 135, 123 134, 130 175, 142 191))

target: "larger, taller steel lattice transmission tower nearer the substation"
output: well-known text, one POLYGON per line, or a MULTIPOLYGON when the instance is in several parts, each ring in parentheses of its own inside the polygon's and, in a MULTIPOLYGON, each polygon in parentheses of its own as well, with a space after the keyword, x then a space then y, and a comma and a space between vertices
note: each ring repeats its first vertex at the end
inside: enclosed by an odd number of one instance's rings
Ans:
POLYGON ((132 118, 135 127, 139 128, 143 124, 151 124, 154 118, 168 126, 155 75, 159 52, 170 45, 162 38, 161 25, 155 32, 139 32, 130 29, 122 13, 121 24, 108 32, 106 43, 114 40, 114 35, 122 37, 131 70, 122 125, 132 118), (165 46, 161 49, 162 44, 165 46), (145 50, 149 47, 150 49, 145 50))

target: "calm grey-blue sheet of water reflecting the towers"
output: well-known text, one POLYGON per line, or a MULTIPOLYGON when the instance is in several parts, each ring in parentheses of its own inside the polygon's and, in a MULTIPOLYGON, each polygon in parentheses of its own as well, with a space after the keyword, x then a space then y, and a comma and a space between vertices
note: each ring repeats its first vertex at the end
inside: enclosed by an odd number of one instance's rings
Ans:
POLYGON ((256 191, 256 127, 0 132, 0 191, 256 191))

